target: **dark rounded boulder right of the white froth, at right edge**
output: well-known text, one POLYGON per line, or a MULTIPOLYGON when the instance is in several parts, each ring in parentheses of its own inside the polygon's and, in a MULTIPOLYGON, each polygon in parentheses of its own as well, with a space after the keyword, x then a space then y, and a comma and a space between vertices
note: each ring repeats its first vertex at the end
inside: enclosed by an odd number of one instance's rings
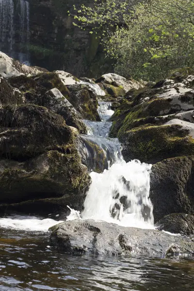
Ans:
MULTIPOLYGON (((194 156, 157 162, 150 174, 154 220, 171 213, 194 213, 194 156)), ((167 230, 167 229, 166 229, 167 230)))

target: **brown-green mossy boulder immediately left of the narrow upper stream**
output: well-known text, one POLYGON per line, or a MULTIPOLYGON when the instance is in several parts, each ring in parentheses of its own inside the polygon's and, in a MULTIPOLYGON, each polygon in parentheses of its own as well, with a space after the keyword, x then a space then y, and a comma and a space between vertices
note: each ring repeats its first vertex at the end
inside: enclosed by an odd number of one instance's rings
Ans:
POLYGON ((97 112, 97 95, 84 84, 69 85, 70 97, 67 98, 82 118, 100 121, 97 112))

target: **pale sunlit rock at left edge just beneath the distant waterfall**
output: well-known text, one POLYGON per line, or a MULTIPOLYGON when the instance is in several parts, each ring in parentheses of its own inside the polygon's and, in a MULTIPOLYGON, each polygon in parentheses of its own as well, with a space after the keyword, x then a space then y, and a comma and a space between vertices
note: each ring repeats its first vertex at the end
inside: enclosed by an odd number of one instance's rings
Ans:
POLYGON ((21 64, 0 51, 0 75, 3 77, 36 75, 41 72, 47 72, 47 70, 36 66, 21 64))

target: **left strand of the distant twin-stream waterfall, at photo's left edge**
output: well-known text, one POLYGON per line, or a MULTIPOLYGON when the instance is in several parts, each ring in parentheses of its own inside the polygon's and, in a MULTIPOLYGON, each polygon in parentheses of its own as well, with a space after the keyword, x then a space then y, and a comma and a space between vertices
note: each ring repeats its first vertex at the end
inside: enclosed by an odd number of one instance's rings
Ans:
POLYGON ((14 2, 0 0, 0 49, 7 45, 12 52, 14 44, 14 2))

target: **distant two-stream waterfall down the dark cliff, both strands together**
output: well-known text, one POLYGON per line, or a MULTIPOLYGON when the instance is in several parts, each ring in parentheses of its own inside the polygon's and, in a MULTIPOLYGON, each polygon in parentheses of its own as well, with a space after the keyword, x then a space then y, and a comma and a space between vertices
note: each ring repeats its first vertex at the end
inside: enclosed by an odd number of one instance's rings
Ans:
POLYGON ((0 0, 0 50, 29 63, 30 7, 27 0, 0 0))

